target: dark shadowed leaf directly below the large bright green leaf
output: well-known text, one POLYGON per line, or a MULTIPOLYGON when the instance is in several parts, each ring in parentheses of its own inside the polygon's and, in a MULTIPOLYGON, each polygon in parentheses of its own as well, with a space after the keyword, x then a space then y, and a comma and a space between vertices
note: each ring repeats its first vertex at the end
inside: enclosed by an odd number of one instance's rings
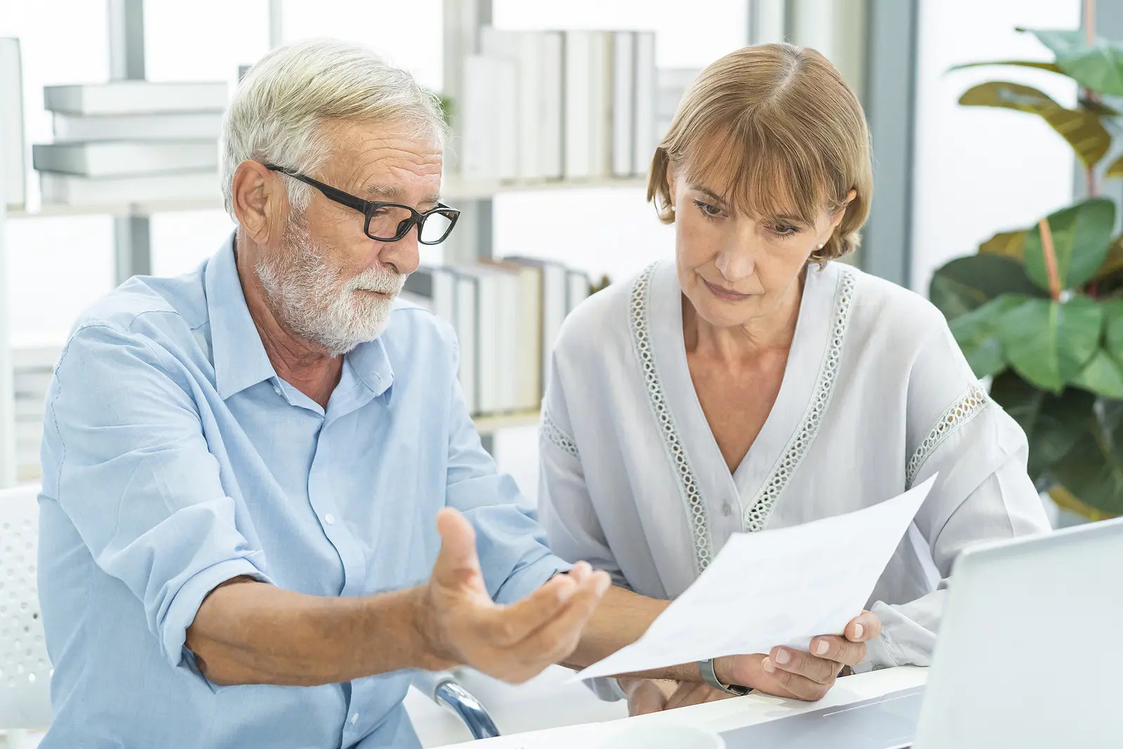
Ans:
POLYGON ((994 378, 990 398, 1014 418, 1030 441, 1030 477, 1037 482, 1087 429, 1095 398, 1069 387, 1060 395, 1038 390, 1007 371, 994 378))

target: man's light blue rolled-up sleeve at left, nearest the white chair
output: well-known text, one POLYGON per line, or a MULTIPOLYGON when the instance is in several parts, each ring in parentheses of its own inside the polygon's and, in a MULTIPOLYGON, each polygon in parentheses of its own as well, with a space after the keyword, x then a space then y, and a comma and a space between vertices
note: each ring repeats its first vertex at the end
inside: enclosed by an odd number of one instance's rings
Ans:
POLYGON ((55 371, 44 422, 44 495, 95 564, 144 605, 172 666, 202 600, 238 576, 270 582, 238 530, 189 380, 146 337, 77 330, 55 371))

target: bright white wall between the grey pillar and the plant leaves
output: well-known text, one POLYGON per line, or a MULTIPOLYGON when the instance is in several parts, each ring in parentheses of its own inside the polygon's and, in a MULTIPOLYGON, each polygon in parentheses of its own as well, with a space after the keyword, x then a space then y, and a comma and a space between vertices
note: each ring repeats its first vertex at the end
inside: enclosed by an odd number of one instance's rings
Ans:
POLYGON ((1072 152, 1043 120, 957 103, 976 83, 1008 80, 1072 106, 1076 89, 1069 80, 1016 67, 947 71, 985 60, 1049 60, 1048 49, 1014 27, 1077 28, 1079 6, 1078 0, 921 0, 913 289, 926 293, 935 268, 973 253, 994 232, 1028 227, 1071 202, 1072 152))

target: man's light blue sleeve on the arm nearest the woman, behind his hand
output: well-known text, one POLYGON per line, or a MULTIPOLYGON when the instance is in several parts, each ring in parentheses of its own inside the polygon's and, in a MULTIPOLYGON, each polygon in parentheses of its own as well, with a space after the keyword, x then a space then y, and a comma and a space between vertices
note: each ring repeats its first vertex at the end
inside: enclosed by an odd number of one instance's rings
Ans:
POLYGON ((475 528, 489 594, 496 603, 514 603, 572 565, 550 552, 537 512, 483 449, 458 382, 449 417, 446 503, 475 528))

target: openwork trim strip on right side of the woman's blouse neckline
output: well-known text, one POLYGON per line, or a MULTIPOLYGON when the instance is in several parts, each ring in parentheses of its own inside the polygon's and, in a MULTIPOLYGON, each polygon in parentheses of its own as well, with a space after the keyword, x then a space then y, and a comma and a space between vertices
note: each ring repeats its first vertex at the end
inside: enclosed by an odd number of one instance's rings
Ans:
POLYGON ((807 405, 807 411, 803 414, 803 421, 795 435, 792 436, 787 447, 773 467, 768 479, 761 485, 760 491, 752 500, 752 504, 745 511, 745 529, 756 532, 765 527, 768 517, 772 514, 776 501, 784 492, 792 475, 803 462, 803 456, 807 454, 811 444, 815 441, 819 433, 819 424, 823 413, 831 402, 831 393, 834 391, 834 381, 838 376, 839 360, 842 358, 842 342, 846 339, 847 327, 850 322, 850 308, 855 295, 855 273, 844 265, 839 266, 839 289, 834 296, 833 327, 831 329, 830 345, 823 363, 819 367, 819 380, 815 383, 815 392, 807 405))

